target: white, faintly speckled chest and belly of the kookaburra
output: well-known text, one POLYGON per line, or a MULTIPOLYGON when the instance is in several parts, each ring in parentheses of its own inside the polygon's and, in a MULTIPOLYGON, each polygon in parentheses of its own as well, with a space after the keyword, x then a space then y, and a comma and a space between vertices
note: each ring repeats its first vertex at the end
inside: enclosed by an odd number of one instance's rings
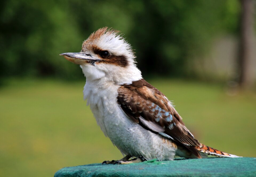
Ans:
POLYGON ((84 87, 84 99, 87 99, 105 136, 110 138, 123 155, 143 155, 148 160, 173 159, 176 149, 171 144, 164 143, 162 137, 144 129, 123 113, 117 103, 119 87, 113 83, 97 86, 91 82, 86 82, 84 87))

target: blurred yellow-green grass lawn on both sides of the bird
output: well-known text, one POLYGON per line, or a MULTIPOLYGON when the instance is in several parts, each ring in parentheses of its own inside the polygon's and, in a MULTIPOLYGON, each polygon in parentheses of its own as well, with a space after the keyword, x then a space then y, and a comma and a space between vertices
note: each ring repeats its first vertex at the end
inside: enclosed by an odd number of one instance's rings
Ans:
MULTIPOLYGON (((256 95, 228 96, 221 85, 152 79, 203 144, 256 157, 256 95)), ((0 176, 53 176, 62 167, 119 159, 97 126, 85 81, 9 79, 0 87, 0 176)))

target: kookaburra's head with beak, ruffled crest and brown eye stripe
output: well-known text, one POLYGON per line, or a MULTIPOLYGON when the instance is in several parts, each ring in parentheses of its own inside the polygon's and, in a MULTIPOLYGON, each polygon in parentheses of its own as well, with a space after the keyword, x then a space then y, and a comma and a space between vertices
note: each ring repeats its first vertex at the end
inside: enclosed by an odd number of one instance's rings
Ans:
POLYGON ((81 52, 60 55, 80 65, 87 80, 104 78, 115 84, 124 84, 142 78, 130 44, 119 31, 107 27, 92 33, 83 42, 81 52))

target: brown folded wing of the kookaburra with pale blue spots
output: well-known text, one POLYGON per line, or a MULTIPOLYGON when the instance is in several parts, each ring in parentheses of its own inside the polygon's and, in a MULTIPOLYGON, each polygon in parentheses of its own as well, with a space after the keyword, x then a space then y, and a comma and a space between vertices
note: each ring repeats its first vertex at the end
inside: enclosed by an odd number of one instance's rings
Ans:
POLYGON ((144 128, 185 146, 200 146, 166 96, 144 79, 122 85, 117 99, 126 115, 144 128))

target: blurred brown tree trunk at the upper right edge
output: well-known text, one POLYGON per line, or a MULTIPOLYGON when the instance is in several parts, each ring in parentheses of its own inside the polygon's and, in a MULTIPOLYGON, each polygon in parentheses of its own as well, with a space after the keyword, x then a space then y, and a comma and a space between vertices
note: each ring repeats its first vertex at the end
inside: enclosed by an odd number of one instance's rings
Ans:
POLYGON ((250 58, 253 57, 253 50, 255 50, 253 48, 255 3, 256 1, 253 0, 241 0, 238 83, 242 88, 248 88, 253 84, 253 77, 249 68, 250 58))

